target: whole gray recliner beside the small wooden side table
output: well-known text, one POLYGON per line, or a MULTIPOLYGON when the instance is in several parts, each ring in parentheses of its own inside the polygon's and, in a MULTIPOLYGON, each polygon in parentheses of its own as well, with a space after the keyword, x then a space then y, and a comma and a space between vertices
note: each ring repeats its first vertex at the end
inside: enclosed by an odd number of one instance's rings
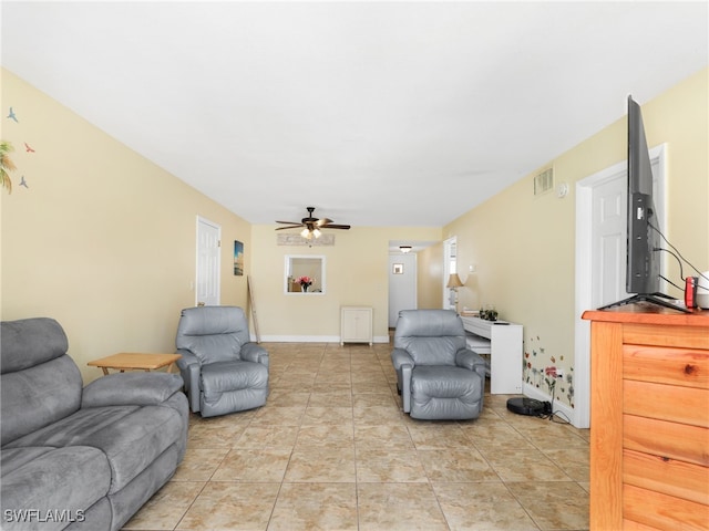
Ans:
POLYGON ((182 311, 175 341, 182 358, 189 407, 203 417, 266 404, 268 353, 251 343, 238 306, 197 306, 182 311))

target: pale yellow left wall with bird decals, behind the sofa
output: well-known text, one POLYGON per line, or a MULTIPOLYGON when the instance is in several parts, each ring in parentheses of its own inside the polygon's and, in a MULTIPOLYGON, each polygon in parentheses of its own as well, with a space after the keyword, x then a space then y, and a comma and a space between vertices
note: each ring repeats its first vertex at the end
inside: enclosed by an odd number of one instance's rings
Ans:
POLYGON ((56 319, 86 381, 115 352, 174 352, 194 305, 196 217, 222 226, 222 303, 246 304, 233 241, 250 226, 70 110, 2 70, 13 191, 2 209, 2 319, 56 319), (27 153, 27 142, 34 153, 27 153), (29 188, 19 186, 24 176, 29 188))

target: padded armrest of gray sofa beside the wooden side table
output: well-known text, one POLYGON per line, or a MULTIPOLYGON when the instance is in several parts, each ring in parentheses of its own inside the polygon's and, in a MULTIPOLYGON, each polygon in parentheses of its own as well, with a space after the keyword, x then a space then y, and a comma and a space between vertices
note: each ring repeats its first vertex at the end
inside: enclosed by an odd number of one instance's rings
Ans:
POLYGON ((183 379, 178 374, 109 374, 84 387, 81 407, 160 405, 179 392, 182 386, 183 379))

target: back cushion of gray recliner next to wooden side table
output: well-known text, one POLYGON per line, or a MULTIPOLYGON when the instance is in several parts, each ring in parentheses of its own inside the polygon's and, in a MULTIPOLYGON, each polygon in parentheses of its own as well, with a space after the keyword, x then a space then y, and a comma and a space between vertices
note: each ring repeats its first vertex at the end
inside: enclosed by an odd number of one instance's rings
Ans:
POLYGON ((182 311, 175 345, 204 364, 240 360, 242 344, 248 340, 248 323, 240 308, 198 306, 182 311))

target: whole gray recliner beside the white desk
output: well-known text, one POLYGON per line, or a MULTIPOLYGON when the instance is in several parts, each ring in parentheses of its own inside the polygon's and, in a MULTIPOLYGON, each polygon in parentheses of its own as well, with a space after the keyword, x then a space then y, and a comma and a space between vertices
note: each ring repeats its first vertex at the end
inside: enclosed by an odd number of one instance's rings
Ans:
POLYGON ((412 418, 463 420, 482 413, 485 361, 466 348, 454 311, 400 311, 391 361, 403 410, 412 418))

